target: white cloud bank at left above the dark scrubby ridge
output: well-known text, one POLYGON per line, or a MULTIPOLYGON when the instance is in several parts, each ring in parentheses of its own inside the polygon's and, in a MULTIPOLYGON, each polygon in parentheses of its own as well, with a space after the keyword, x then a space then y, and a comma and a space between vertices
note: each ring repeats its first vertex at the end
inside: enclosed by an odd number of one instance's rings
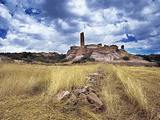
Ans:
MULTIPOLYGON (((0 47, 1 52, 65 52, 69 48, 65 44, 65 36, 56 30, 54 22, 50 25, 40 23, 32 16, 23 13, 23 11, 18 11, 14 17, 10 17, 9 11, 4 6, 0 7, 0 10, 0 15, 7 18, 10 24, 6 39, 1 40, 3 43, 3 46, 0 47), (25 41, 26 45, 22 46, 18 41, 25 41)), ((60 23, 64 29, 69 28, 64 21, 61 20, 60 23)))

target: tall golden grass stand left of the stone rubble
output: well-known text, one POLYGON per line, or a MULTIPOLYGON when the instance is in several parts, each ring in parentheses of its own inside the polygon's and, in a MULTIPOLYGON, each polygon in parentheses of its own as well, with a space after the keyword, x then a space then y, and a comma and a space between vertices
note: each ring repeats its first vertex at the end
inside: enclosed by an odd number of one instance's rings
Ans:
POLYGON ((96 71, 96 65, 42 66, 0 65, 0 95, 17 95, 34 92, 56 94, 62 89, 83 85, 86 75, 96 71))

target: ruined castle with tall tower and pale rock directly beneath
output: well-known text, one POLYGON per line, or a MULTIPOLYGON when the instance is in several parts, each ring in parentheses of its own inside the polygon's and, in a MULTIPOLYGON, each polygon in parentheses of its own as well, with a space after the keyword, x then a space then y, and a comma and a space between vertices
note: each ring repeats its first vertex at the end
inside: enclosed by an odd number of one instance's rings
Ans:
POLYGON ((118 49, 116 45, 102 45, 102 44, 89 44, 85 45, 84 32, 80 33, 80 46, 71 46, 67 52, 67 59, 80 60, 84 56, 89 56, 96 61, 113 61, 120 60, 122 57, 127 56, 128 53, 124 50, 124 46, 118 49))

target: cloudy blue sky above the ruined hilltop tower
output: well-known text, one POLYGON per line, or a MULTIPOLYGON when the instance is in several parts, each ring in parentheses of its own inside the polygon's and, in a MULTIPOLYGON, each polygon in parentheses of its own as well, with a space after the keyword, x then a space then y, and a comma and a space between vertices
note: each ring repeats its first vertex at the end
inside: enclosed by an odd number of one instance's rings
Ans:
POLYGON ((160 0, 0 0, 0 52, 59 52, 86 44, 160 54, 160 0))

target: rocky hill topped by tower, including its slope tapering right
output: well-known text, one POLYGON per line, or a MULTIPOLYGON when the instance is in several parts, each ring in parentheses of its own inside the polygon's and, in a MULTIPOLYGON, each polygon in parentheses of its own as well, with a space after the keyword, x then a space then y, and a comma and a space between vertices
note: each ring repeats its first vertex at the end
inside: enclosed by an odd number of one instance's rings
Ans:
POLYGON ((142 57, 129 54, 124 45, 119 49, 117 45, 89 44, 85 45, 84 33, 80 33, 80 46, 72 46, 66 54, 67 60, 73 62, 90 60, 99 62, 112 61, 139 61, 145 62, 142 57))

